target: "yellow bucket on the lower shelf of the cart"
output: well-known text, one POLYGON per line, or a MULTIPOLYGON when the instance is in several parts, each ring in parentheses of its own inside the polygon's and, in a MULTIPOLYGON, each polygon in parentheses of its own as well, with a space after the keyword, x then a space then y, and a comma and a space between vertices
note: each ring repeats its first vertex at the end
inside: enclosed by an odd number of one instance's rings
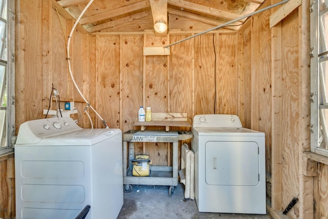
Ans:
POLYGON ((136 155, 135 159, 131 160, 133 164, 132 175, 133 176, 149 176, 151 161, 149 155, 140 154, 136 155))

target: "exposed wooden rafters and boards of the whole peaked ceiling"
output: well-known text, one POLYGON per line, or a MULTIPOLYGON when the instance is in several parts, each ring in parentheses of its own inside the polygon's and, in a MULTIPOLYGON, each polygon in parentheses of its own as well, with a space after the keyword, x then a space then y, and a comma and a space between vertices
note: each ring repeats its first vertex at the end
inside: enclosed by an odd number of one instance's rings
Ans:
MULTIPOLYGON (((57 9, 61 15, 67 17, 68 19, 74 19, 74 17, 76 18, 78 15, 81 8, 83 8, 83 6, 90 0, 52 1, 53 8, 57 9)), ((94 0, 95 4, 98 6, 101 5, 102 1, 105 0, 94 0)), ((106 10, 106 8, 104 8, 104 10, 98 12, 98 14, 94 14, 96 11, 93 11, 92 13, 89 12, 88 14, 87 11, 84 17, 80 19, 77 29, 81 32, 98 32, 113 28, 115 26, 124 25, 127 22, 136 22, 137 19, 144 19, 143 22, 145 25, 145 17, 150 17, 151 14, 153 25, 158 20, 166 22, 168 28, 165 33, 157 33, 155 31, 157 35, 163 35, 167 34, 169 30, 169 14, 185 17, 208 25, 219 26, 226 21, 229 22, 239 18, 242 13, 247 13, 248 11, 253 12, 253 10, 262 4, 263 1, 264 0, 243 0, 238 3, 232 1, 229 3, 227 2, 227 6, 224 6, 223 9, 222 6, 221 8, 217 8, 214 1, 209 1, 206 5, 201 5, 190 0, 138 0, 137 2, 133 1, 134 3, 130 3, 130 5, 122 7, 116 6, 116 8, 111 10, 108 8, 108 11, 104 11, 106 10), (229 8, 231 8, 231 10, 229 8), (238 8, 238 10, 236 8, 238 8)), ((245 19, 241 19, 232 25, 240 25, 244 21, 245 19)), ((149 28, 150 23, 146 26, 149 28)), ((239 29, 237 26, 230 26, 227 28, 231 30, 239 29)), ((137 29, 140 29, 140 27, 137 29)))

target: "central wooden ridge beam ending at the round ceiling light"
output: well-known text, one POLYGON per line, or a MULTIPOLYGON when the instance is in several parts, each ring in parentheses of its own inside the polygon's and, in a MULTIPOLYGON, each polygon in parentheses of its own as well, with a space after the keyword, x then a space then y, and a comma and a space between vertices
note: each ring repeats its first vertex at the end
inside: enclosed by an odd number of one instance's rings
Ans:
MULTIPOLYGON (((167 25, 167 29, 164 34, 168 32, 168 0, 150 0, 150 7, 153 15, 153 24, 155 25, 156 21, 164 21, 167 25)), ((155 31, 156 34, 158 34, 155 31)))

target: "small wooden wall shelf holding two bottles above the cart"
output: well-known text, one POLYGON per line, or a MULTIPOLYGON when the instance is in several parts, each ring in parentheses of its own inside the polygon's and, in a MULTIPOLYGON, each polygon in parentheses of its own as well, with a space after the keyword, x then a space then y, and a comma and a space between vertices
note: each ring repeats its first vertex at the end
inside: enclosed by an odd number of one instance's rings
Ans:
POLYGON ((147 126, 165 126, 165 131, 169 131, 171 127, 191 127, 191 121, 187 117, 187 113, 152 113, 152 121, 139 122, 136 120, 133 126, 140 126, 140 130, 144 131, 147 126))

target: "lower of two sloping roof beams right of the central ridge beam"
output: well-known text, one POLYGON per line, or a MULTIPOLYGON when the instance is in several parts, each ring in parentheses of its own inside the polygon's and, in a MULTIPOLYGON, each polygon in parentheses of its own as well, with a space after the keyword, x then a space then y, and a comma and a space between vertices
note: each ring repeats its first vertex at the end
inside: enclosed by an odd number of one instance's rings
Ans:
MULTIPOLYGON (((181 10, 174 9, 174 8, 168 8, 168 12, 170 14, 178 15, 181 17, 186 17, 189 19, 193 19, 194 21, 213 25, 213 26, 219 26, 219 25, 224 24, 224 22, 218 21, 217 19, 214 19, 214 18, 205 17, 205 16, 193 14, 193 13, 186 12, 186 11, 181 11, 181 10)), ((241 25, 241 24, 242 24, 242 22, 235 22, 235 23, 232 23, 231 25, 241 25)), ((231 29, 231 30, 238 30, 239 26, 227 26, 227 28, 231 29)))

